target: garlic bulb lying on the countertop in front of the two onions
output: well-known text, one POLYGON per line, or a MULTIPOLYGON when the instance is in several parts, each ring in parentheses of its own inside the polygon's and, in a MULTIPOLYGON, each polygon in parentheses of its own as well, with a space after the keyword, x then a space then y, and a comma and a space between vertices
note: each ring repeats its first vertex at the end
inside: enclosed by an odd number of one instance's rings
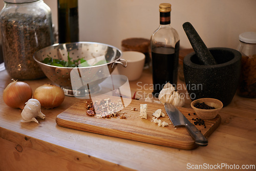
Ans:
POLYGON ((31 122, 34 121, 38 123, 35 117, 39 116, 42 119, 45 119, 46 116, 41 113, 41 104, 37 99, 29 99, 26 102, 26 105, 22 111, 22 118, 20 122, 31 122))

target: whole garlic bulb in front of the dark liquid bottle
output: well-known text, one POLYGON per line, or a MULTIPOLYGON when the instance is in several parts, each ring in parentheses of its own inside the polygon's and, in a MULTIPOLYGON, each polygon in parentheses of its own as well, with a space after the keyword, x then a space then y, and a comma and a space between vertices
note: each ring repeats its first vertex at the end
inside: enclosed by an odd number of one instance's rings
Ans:
POLYGON ((179 107, 182 107, 185 103, 184 95, 180 95, 178 91, 175 91, 175 88, 169 82, 164 85, 163 89, 159 93, 158 98, 163 104, 170 103, 179 107))

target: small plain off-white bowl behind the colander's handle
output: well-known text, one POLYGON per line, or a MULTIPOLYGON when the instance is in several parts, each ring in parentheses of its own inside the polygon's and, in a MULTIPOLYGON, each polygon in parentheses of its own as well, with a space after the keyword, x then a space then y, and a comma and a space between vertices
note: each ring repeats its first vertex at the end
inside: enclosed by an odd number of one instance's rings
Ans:
POLYGON ((117 66, 118 73, 125 75, 129 81, 139 79, 145 62, 145 55, 136 51, 124 51, 122 52, 122 59, 127 61, 127 67, 117 66))

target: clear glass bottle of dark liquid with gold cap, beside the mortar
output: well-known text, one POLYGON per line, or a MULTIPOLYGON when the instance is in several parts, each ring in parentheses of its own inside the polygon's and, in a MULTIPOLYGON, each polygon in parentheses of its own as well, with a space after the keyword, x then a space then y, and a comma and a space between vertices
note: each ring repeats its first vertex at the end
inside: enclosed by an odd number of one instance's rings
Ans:
POLYGON ((170 26, 171 5, 159 5, 160 26, 151 36, 153 94, 158 97, 163 86, 169 82, 176 88, 178 77, 180 38, 170 26))

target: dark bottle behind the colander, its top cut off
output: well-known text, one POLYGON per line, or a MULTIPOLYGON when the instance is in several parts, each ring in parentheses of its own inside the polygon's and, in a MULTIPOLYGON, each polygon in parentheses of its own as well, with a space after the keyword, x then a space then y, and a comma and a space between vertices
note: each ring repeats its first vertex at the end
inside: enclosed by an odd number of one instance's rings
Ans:
POLYGON ((79 41, 78 0, 58 0, 59 43, 79 41))

